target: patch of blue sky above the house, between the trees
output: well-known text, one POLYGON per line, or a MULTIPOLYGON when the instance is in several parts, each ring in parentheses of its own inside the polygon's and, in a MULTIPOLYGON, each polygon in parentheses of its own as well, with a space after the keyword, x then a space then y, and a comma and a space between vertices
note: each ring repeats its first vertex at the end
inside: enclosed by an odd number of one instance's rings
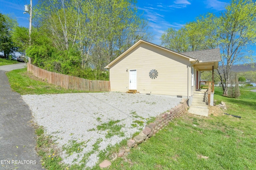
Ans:
POLYGON ((229 0, 138 0, 138 9, 144 11, 154 41, 160 45, 160 37, 169 27, 180 29, 187 22, 208 12, 216 16, 225 11, 229 0))

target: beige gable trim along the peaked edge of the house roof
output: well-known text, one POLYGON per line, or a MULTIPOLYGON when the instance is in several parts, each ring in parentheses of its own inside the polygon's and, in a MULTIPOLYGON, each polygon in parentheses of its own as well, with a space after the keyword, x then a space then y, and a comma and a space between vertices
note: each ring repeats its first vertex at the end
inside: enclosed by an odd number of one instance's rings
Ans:
POLYGON ((111 63, 109 63, 106 67, 104 67, 104 68, 110 68, 110 66, 112 65, 112 64, 114 64, 114 63, 116 63, 118 60, 120 60, 122 57, 124 57, 124 55, 126 55, 129 51, 131 51, 132 49, 134 49, 135 47, 137 47, 140 43, 147 43, 147 44, 149 44, 149 45, 153 45, 153 46, 155 46, 155 47, 158 47, 158 48, 161 48, 161 49, 163 49, 163 50, 166 50, 166 51, 169 51, 169 52, 171 52, 171 53, 175 53, 175 54, 177 54, 177 55, 180 55, 180 56, 182 56, 182 57, 186 57, 186 58, 188 58, 188 59, 191 59, 192 61, 198 61, 196 58, 194 58, 194 57, 190 57, 190 56, 187 56, 187 55, 185 55, 185 54, 181 54, 181 53, 178 53, 178 52, 176 52, 176 51, 172 51, 172 50, 170 50, 170 49, 167 49, 167 48, 165 48, 165 47, 162 47, 162 46, 160 46, 160 45, 156 45, 156 44, 154 44, 154 43, 150 43, 150 42, 148 42, 148 41, 145 41, 145 40, 143 40, 143 39, 140 39, 139 41, 137 41, 134 45, 132 45, 132 47, 130 47, 129 49, 127 49, 126 51, 124 51, 124 53, 122 53, 119 57, 117 57, 116 59, 114 59, 114 61, 112 61, 111 63))

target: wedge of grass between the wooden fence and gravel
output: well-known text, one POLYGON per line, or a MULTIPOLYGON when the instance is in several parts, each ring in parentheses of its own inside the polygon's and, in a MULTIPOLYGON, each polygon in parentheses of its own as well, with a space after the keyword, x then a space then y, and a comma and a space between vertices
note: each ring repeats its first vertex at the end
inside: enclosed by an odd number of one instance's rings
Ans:
POLYGON ((62 94, 62 93, 81 93, 86 91, 68 90, 48 84, 40 78, 33 76, 31 73, 26 71, 26 68, 12 70, 6 73, 11 88, 20 93, 24 94, 62 94))

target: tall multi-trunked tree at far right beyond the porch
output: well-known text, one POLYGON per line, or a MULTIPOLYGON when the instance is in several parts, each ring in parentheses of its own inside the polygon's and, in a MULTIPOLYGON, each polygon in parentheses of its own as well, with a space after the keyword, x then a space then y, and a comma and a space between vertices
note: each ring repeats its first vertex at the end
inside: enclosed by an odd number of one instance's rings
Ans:
POLYGON ((256 42, 256 3, 252 0, 232 0, 220 16, 219 47, 222 51, 222 72, 218 69, 223 94, 228 95, 230 68, 234 63, 252 62, 246 50, 256 42))

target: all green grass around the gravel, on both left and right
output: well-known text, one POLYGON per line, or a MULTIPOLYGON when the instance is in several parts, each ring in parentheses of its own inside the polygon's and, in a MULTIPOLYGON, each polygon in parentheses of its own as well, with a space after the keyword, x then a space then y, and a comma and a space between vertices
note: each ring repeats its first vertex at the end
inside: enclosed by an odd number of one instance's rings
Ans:
MULTIPOLYGON (((74 92, 42 82, 27 73, 25 68, 7 75, 13 90, 20 94, 74 92)), ((183 114, 156 136, 132 148, 126 156, 112 161, 106 169, 256 170, 256 92, 248 90, 241 90, 240 98, 234 99, 222 96, 220 88, 215 88, 214 100, 226 102, 228 110, 223 112, 239 115, 241 119, 222 112, 209 117, 183 114)), ((42 127, 38 129, 37 150, 46 169, 84 169, 84 163, 60 164, 61 155, 55 150, 50 136, 44 135, 42 127)), ((126 140, 100 152, 98 164, 104 159, 111 160, 113 152, 122 147, 126 147, 126 140)), ((100 169, 98 164, 92 169, 100 169)))

